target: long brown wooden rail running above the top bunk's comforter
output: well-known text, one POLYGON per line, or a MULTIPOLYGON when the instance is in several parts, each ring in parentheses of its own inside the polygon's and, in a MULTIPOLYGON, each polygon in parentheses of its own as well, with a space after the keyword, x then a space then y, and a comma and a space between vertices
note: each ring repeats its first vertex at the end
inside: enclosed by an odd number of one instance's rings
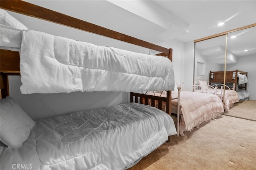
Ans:
POLYGON ((131 36, 127 36, 125 34, 122 34, 113 30, 109 30, 107 28, 97 26, 95 24, 92 24, 77 18, 73 18, 71 16, 68 16, 53 10, 49 10, 47 8, 43 8, 41 6, 37 6, 22 0, 1 0, 0 5, 1 5, 0 7, 4 10, 9 10, 19 14, 24 14, 27 16, 32 16, 34 18, 39 18, 49 22, 54 22, 56 24, 61 24, 64 26, 76 28, 78 30, 92 32, 98 35, 114 38, 116 40, 132 43, 135 45, 139 45, 141 47, 154 49, 156 51, 160 51, 168 55, 170 54, 170 49, 168 48, 164 48, 159 45, 155 45, 153 43, 149 43, 131 36))

